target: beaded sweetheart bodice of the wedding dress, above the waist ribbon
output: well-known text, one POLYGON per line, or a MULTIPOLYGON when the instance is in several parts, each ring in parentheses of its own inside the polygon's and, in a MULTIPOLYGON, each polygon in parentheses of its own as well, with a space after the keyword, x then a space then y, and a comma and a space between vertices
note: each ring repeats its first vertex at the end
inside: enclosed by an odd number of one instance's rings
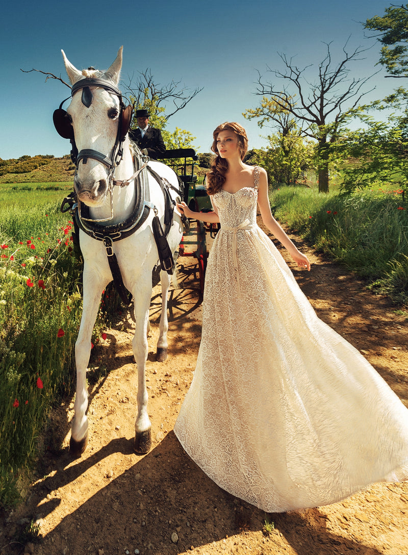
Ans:
POLYGON ((256 203, 258 201, 259 168, 254 168, 254 185, 229 193, 220 189, 213 199, 218 209, 222 228, 236 228, 245 220, 249 225, 256 224, 256 203))

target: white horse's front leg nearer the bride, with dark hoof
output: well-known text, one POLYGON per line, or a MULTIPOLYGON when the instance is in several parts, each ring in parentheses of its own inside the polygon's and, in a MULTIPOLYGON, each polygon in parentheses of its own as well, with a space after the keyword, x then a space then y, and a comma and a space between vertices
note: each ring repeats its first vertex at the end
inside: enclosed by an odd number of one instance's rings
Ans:
POLYGON ((134 450, 147 453, 152 446, 150 428, 152 424, 147 412, 148 394, 146 387, 145 366, 148 355, 147 326, 149 321, 150 299, 152 297, 152 281, 149 276, 138 280, 134 291, 135 332, 133 336, 133 356, 138 366, 138 414, 135 421, 134 450), (150 281, 149 281, 150 279, 150 281))

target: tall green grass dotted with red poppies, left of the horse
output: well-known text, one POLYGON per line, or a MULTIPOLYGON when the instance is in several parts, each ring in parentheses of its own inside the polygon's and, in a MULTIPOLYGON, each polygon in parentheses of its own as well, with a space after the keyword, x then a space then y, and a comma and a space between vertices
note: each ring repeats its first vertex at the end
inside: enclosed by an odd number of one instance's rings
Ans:
POLYGON ((81 266, 57 194, 0 188, 0 505, 18 497, 18 475, 74 375, 81 266))

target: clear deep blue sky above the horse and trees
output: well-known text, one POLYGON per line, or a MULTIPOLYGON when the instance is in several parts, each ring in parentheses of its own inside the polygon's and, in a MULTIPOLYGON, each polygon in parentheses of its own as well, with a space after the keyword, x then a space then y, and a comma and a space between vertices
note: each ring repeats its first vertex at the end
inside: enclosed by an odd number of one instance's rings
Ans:
MULTIPOLYGON (((237 121, 248 132, 249 147, 266 145, 268 133, 245 120, 254 108, 258 69, 283 69, 278 52, 296 56, 303 67, 318 64, 325 45, 332 41, 334 60, 351 35, 349 50, 375 46, 365 60, 353 63, 357 77, 379 67, 379 44, 364 36, 362 22, 384 14, 391 2, 382 0, 173 0, 111 2, 43 0, 7 2, 2 8, 0 52, 0 158, 24 154, 69 153, 69 142, 59 137, 52 113, 69 94, 60 82, 21 69, 41 69, 67 79, 61 49, 75 67, 106 69, 123 44, 122 80, 150 68, 162 84, 181 80, 187 87, 204 87, 188 106, 169 119, 168 129, 189 130, 199 152, 209 152, 213 129, 221 122, 237 121)), ((313 69, 312 69, 313 70, 313 69)), ((309 69, 309 71, 311 71, 309 69)), ((385 79, 384 69, 367 89, 371 98, 397 87, 385 79)), ((122 87, 124 90, 124 87, 122 87)))

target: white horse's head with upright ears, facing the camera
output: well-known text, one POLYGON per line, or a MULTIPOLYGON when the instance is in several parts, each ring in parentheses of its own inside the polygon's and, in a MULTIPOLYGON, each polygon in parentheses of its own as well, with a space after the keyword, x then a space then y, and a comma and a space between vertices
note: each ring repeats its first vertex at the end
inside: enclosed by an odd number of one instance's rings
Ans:
POLYGON ((74 187, 79 200, 89 206, 103 203, 113 171, 110 166, 114 164, 120 112, 124 108, 117 89, 122 48, 105 72, 93 68, 80 71, 62 51, 67 74, 73 85, 72 101, 67 113, 79 152, 74 187), (109 89, 109 85, 112 89, 109 89))

